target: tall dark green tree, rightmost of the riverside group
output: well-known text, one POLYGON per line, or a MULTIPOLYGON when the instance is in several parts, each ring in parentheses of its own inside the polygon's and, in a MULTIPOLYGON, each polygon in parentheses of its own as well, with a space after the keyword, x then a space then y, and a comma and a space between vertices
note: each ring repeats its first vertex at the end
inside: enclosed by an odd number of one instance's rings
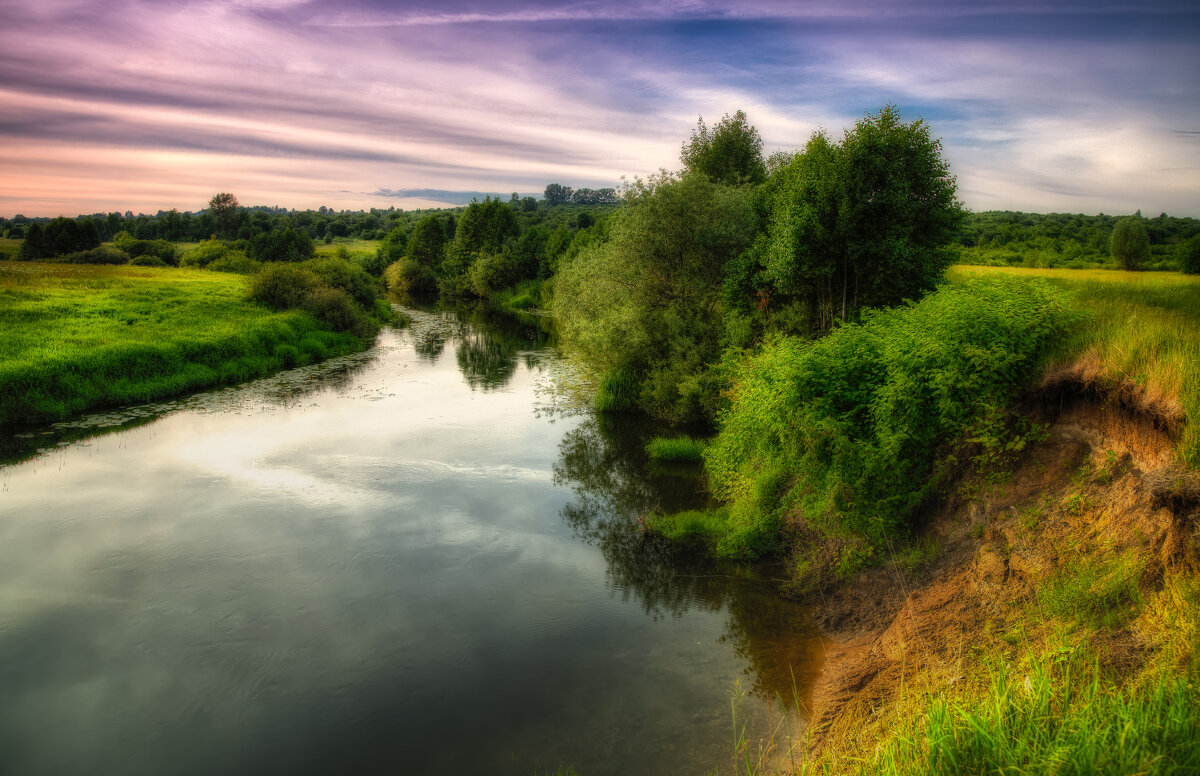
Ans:
MULTIPOLYGON (((962 218, 942 144, 894 106, 860 119, 841 144, 823 132, 767 184, 756 290, 802 302, 828 329, 859 307, 934 288, 962 218)), ((752 282, 752 281, 751 281, 752 282)))

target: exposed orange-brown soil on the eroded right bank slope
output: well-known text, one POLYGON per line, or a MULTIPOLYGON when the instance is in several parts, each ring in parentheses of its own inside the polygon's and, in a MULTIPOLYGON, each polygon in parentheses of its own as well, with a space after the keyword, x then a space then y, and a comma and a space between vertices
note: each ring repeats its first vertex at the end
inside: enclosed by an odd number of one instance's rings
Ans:
MULTIPOLYGON (((1010 476, 964 475, 930 517, 940 552, 926 567, 888 563, 815 594, 832 644, 814 693, 814 753, 874 750, 882 704, 917 678, 931 690, 962 679, 972 650, 1012 639, 1037 584, 1076 558, 1135 555, 1147 590, 1168 565, 1196 563, 1200 479, 1172 463, 1172 407, 1103 393, 1086 363, 1051 374, 1024 404, 1050 438, 1010 476)), ((1135 627, 1103 633, 1092 646, 1105 664, 1139 664, 1135 627)))

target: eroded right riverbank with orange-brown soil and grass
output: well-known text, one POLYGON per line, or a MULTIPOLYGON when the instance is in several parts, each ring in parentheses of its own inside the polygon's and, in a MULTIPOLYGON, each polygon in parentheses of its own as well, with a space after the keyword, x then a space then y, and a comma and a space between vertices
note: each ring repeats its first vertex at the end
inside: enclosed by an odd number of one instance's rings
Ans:
POLYGON ((1086 315, 916 541, 814 591, 800 772, 1200 772, 1200 283, 1038 276, 1086 315))

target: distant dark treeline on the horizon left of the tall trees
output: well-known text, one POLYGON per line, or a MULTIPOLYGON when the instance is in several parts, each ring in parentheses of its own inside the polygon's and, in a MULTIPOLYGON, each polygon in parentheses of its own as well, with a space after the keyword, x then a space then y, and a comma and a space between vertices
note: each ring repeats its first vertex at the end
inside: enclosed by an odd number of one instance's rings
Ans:
MULTIPOLYGON (((611 206, 619 203, 619 197, 613 188, 571 188, 559 184, 551 184, 546 187, 545 199, 533 197, 521 198, 512 194, 505 201, 512 210, 523 215, 523 219, 530 223, 545 224, 553 229, 558 225, 572 225, 577 215, 576 209, 592 209, 595 206, 611 206), (572 207, 575 206, 575 207, 572 207)), ((30 218, 17 215, 12 218, 0 217, 0 236, 16 240, 24 240, 30 227, 40 224, 44 230, 50 223, 56 223, 55 231, 67 234, 71 231, 70 242, 77 241, 84 247, 71 249, 59 249, 54 247, 54 254, 82 251, 91 245, 92 235, 98 236, 102 242, 113 241, 122 231, 128 233, 137 240, 167 240, 170 242, 199 242, 216 235, 226 240, 253 240, 258 235, 270 233, 276 229, 292 229, 304 231, 317 242, 332 242, 338 237, 353 240, 383 240, 397 227, 408 230, 430 212, 450 212, 458 207, 444 210, 398 210, 396 207, 372 207, 359 211, 336 211, 330 207, 318 207, 317 210, 287 210, 271 206, 239 207, 235 218, 228 223, 218 222, 211 209, 198 210, 196 212, 180 210, 160 210, 155 215, 133 215, 132 212, 109 212, 76 216, 73 218, 30 218), (65 227, 64 222, 73 222, 77 229, 65 227), (77 240, 76 233, 85 234, 86 240, 77 240)), ((52 254, 53 255, 53 254, 52 254)))

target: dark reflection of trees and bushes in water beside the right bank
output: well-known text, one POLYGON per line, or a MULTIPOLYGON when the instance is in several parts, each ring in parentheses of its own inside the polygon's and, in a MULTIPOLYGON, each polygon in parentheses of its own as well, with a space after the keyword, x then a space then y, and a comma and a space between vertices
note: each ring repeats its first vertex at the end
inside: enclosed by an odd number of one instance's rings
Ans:
POLYGON ((754 691, 791 704, 794 688, 808 703, 823 648, 804 609, 782 597, 772 570, 719 563, 644 533, 638 517, 703 506, 692 476, 650 464, 644 444, 655 433, 644 419, 595 416, 559 443, 554 481, 576 499, 563 517, 578 536, 600 548, 608 584, 635 596, 656 620, 691 609, 728 612, 722 639, 746 663, 754 691))

